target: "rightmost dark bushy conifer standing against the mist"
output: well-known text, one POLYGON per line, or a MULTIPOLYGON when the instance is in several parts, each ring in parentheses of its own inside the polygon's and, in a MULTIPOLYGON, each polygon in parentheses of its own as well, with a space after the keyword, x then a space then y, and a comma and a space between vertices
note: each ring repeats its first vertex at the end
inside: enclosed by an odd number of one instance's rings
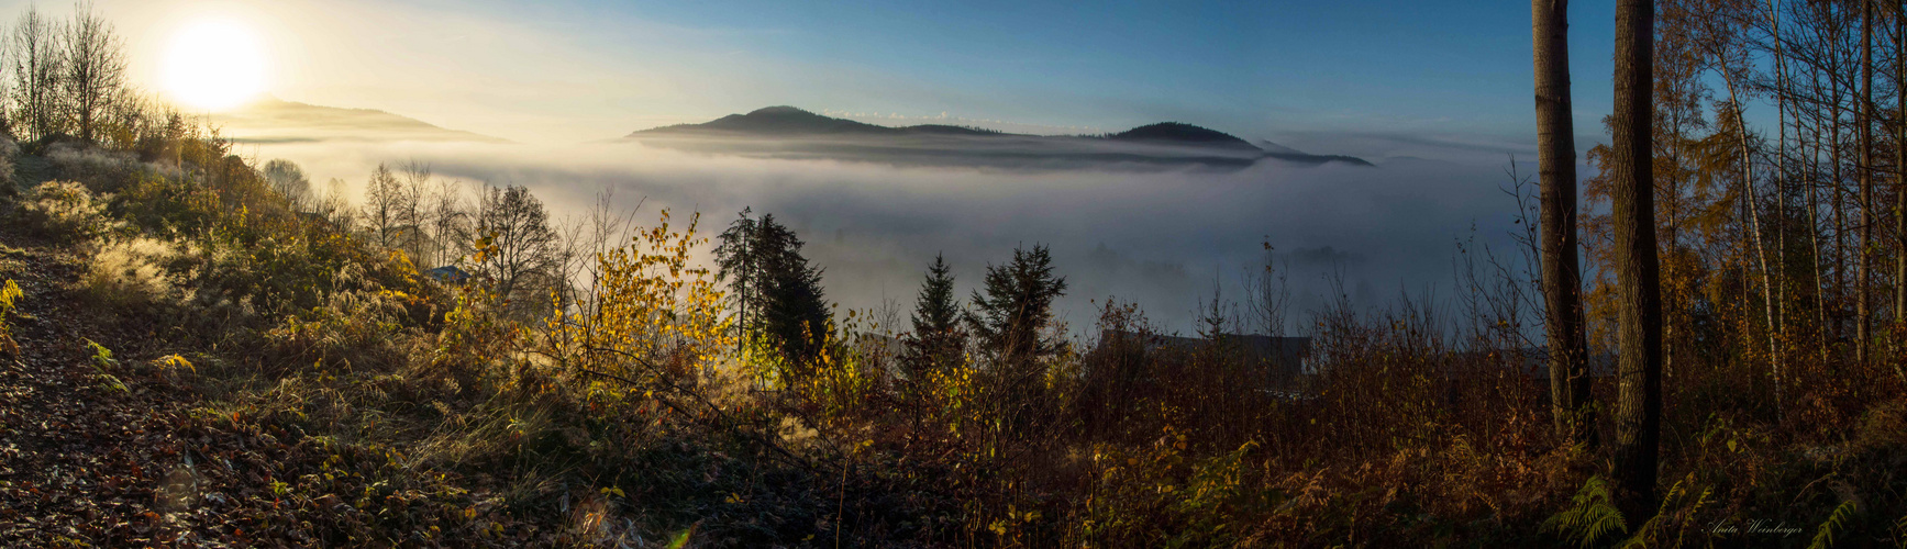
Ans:
POLYGON ((967 326, 1001 362, 1051 356, 1064 343, 1041 332, 1053 324, 1053 299, 1060 295, 1066 295, 1066 278, 1053 276, 1047 246, 1018 248, 1013 263, 986 267, 986 295, 973 294, 976 311, 967 313, 967 326))

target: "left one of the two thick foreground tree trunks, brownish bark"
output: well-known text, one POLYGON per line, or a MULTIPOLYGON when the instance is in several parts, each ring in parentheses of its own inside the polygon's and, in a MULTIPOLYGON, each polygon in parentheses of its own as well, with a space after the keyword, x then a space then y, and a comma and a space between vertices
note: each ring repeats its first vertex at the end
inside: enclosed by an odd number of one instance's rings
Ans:
POLYGON ((1569 0, 1531 0, 1537 172, 1543 177, 1543 297, 1556 435, 1594 446, 1583 274, 1575 240, 1575 124, 1569 118, 1569 0))

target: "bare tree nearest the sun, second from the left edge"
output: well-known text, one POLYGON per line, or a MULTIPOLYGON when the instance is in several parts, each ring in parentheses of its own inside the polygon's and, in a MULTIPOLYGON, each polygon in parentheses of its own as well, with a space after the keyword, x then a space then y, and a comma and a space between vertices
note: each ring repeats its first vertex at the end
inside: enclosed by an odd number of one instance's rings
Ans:
POLYGON ((93 143, 99 118, 126 88, 126 48, 113 23, 93 11, 92 2, 76 6, 72 21, 59 29, 67 103, 80 139, 93 143))

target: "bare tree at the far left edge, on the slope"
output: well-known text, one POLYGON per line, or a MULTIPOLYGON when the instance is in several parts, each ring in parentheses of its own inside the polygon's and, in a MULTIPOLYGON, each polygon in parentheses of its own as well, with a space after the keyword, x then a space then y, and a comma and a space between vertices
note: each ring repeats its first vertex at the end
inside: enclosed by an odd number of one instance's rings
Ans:
POLYGON ((65 130, 65 93, 59 93, 59 74, 65 55, 59 53, 59 27, 46 19, 38 6, 27 6, 8 32, 6 48, 13 61, 13 93, 8 112, 13 132, 25 141, 36 141, 65 130))

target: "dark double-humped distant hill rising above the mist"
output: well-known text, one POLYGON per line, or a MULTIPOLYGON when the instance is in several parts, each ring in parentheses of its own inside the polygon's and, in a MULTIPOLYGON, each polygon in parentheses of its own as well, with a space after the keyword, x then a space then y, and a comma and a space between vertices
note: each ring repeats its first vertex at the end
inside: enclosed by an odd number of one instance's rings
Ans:
POLYGON ((1024 135, 944 124, 891 128, 795 107, 767 107, 702 124, 641 130, 624 141, 711 154, 906 166, 1241 170, 1266 158, 1308 166, 1327 162, 1371 166, 1352 156, 1308 154, 1285 147, 1266 151, 1230 133, 1180 122, 1148 124, 1108 135, 1024 135))

